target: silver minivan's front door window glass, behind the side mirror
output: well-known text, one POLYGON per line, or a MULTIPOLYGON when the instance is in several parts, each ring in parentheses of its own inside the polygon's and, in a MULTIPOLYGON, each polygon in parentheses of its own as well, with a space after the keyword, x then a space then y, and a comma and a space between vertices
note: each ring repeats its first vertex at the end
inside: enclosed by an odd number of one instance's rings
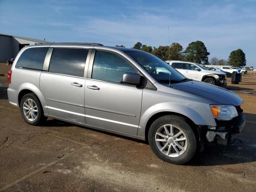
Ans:
POLYGON ((114 53, 96 51, 92 79, 122 83, 123 74, 126 72, 137 73, 138 70, 114 53))

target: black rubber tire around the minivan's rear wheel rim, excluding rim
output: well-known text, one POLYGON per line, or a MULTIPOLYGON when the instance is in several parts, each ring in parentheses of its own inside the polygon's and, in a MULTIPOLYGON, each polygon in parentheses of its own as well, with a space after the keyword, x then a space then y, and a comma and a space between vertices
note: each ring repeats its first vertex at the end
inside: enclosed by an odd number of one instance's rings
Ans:
POLYGON ((30 125, 38 125, 47 119, 47 117, 44 116, 44 111, 42 109, 42 105, 41 105, 39 99, 37 98, 36 94, 34 94, 34 93, 28 93, 22 97, 22 99, 20 101, 20 112, 21 112, 22 118, 25 120, 25 122, 30 125), (32 100, 36 104, 36 107, 37 107, 37 113, 36 113, 37 116, 34 120, 29 120, 24 114, 24 108, 23 108, 24 102, 28 99, 32 100))

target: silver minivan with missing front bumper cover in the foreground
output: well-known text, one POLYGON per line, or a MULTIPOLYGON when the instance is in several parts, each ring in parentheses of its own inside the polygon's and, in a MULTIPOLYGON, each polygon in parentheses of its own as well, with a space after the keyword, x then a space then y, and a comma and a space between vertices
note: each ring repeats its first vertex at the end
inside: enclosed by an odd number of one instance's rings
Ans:
POLYGON ((30 125, 58 120, 146 140, 161 160, 188 162, 244 127, 243 100, 185 78, 140 50, 90 43, 24 47, 8 72, 10 104, 30 125))

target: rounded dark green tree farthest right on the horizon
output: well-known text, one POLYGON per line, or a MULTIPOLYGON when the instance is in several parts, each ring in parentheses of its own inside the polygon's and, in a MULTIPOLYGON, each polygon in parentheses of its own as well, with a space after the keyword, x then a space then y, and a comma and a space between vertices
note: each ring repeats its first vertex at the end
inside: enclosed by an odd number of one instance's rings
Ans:
POLYGON ((233 67, 243 67, 246 65, 245 54, 242 49, 234 50, 228 57, 228 64, 233 67))

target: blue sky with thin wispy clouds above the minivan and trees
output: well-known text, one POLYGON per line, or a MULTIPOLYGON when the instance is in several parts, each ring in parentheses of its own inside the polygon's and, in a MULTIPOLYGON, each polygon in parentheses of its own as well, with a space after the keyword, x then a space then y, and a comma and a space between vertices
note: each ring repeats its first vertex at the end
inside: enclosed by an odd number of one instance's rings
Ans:
POLYGON ((201 40, 209 58, 241 48, 256 67, 256 0, 0 0, 0 33, 132 47, 201 40))

